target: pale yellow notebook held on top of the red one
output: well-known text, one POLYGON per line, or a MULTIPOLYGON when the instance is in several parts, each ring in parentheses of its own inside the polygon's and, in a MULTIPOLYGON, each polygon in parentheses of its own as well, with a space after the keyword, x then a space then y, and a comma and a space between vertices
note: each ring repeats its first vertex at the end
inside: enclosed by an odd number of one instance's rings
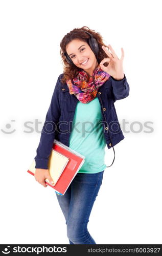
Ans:
MULTIPOLYGON (((49 157, 48 167, 49 167, 49 173, 51 178, 54 181, 53 185, 56 185, 58 179, 60 178, 65 166, 67 165, 69 159, 68 157, 63 156, 62 154, 58 153, 55 150, 51 151, 51 155, 49 157)), ((34 174, 35 173, 35 160, 31 164, 29 170, 34 174)), ((48 179, 45 179, 45 181, 49 182, 48 179)))

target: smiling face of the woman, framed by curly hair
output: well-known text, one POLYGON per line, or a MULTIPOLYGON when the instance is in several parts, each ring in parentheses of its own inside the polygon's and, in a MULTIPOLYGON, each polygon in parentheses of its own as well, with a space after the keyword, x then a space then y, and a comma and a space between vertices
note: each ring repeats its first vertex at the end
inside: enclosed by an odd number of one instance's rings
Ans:
POLYGON ((74 39, 66 46, 66 52, 72 59, 73 63, 83 70, 85 70, 90 76, 92 75, 96 65, 96 56, 92 52, 91 48, 85 41, 74 39))

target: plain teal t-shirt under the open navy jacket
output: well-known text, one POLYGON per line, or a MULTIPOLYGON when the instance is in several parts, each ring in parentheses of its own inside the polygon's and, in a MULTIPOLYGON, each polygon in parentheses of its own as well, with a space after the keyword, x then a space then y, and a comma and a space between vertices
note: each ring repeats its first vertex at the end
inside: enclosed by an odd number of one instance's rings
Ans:
POLYGON ((78 101, 70 134, 69 147, 85 156, 78 173, 99 173, 104 163, 106 141, 103 133, 101 105, 98 97, 88 103, 78 101))

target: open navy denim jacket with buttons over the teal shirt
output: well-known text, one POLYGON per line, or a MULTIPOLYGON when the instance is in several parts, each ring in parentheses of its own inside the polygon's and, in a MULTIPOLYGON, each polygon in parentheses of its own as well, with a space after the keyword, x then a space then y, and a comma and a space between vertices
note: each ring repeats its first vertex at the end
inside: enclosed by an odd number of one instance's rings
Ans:
MULTIPOLYGON (((37 155, 34 158, 36 162, 35 168, 48 169, 48 160, 54 139, 59 140, 66 146, 70 144, 75 109, 79 100, 74 94, 70 94, 66 83, 61 83, 60 78, 62 76, 63 73, 57 79, 51 104, 42 127, 40 142, 36 150, 37 155)), ((108 148, 111 148, 124 139, 114 102, 126 98, 128 95, 129 84, 125 74, 124 78, 120 81, 110 76, 109 80, 103 83, 98 90, 97 97, 101 104, 103 116, 103 132, 108 148), (112 143, 109 136, 111 137, 112 143)))

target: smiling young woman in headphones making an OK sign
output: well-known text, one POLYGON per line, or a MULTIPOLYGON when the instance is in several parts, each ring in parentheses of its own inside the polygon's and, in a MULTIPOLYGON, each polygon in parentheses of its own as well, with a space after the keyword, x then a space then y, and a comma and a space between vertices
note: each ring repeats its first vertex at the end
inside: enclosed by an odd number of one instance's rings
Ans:
POLYGON ((109 167, 104 162, 105 146, 111 148, 124 139, 114 108, 115 100, 129 95, 124 50, 119 59, 110 45, 106 48, 99 33, 85 26, 67 33, 60 48, 64 72, 58 77, 43 125, 35 179, 44 187, 46 178, 52 182, 48 159, 55 138, 85 156, 64 196, 56 196, 70 244, 96 244, 87 224, 104 170, 109 167))

